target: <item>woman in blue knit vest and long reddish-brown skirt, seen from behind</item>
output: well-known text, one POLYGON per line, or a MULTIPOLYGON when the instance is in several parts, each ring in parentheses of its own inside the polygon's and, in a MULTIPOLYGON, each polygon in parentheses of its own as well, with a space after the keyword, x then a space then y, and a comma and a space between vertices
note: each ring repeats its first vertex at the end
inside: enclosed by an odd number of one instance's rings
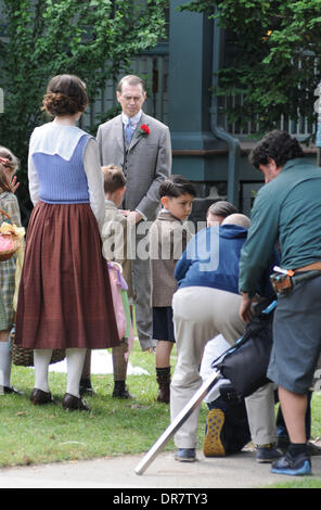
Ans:
POLYGON ((76 126, 88 104, 85 84, 59 75, 43 110, 52 122, 34 130, 28 157, 35 205, 18 293, 16 343, 34 349, 31 401, 49 404, 52 349, 66 349, 65 409, 89 410, 79 395, 87 349, 118 345, 100 229, 105 206, 97 142, 76 126))

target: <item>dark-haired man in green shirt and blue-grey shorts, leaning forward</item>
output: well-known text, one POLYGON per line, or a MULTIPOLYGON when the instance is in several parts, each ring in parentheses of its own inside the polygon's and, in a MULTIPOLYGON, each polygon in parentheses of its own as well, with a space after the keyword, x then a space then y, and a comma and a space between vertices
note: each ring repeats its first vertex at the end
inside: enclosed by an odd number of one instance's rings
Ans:
POLYGON ((294 285, 278 298, 268 378, 279 386, 291 443, 272 472, 309 474, 305 413, 321 352, 321 168, 304 158, 295 138, 279 130, 264 137, 249 161, 266 186, 255 200, 242 248, 240 316, 251 320, 257 282, 279 243, 281 267, 294 272, 294 285))

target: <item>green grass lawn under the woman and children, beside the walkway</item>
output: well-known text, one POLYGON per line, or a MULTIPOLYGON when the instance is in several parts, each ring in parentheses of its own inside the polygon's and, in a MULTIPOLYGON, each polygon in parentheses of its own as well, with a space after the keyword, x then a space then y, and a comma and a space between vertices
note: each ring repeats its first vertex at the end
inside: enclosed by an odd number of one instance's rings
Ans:
MULTIPOLYGON (((175 361, 174 354, 172 366, 175 361)), ((49 373, 56 404, 34 406, 29 401, 34 369, 13 367, 12 383, 25 395, 0 396, 0 467, 147 451, 169 424, 169 406, 155 401, 155 356, 142 353, 136 342, 130 362, 150 373, 128 377, 128 386, 136 398, 112 398, 113 375, 92 375, 97 394, 86 397, 91 407, 89 413, 62 408, 66 374, 57 372, 49 373)), ((204 406, 200 445, 206 413, 204 406)), ((167 449, 174 449, 172 442, 167 449)))

